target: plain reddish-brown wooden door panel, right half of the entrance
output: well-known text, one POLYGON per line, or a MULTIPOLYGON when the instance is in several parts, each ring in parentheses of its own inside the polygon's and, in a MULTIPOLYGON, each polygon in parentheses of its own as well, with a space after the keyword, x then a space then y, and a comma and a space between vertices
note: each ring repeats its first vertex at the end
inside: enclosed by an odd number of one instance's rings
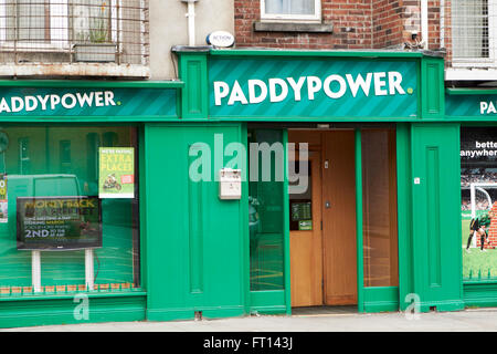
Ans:
POLYGON ((355 132, 322 134, 325 304, 357 304, 355 132))

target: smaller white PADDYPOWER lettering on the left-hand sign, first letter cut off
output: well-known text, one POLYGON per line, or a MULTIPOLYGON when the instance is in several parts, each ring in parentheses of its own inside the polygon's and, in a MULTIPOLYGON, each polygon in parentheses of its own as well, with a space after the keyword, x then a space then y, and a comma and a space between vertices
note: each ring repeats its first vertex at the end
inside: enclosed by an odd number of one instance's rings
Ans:
POLYGON ((112 91, 94 91, 88 93, 66 93, 64 95, 47 94, 35 96, 12 96, 10 98, 2 97, 0 100, 0 113, 32 112, 36 108, 41 111, 54 111, 59 107, 72 110, 74 107, 105 107, 115 106, 114 92, 112 91))

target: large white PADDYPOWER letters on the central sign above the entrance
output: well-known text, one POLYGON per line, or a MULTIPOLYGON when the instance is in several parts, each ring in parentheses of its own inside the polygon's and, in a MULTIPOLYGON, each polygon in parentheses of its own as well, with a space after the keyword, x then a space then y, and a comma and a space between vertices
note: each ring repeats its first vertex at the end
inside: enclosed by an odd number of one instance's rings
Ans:
POLYGON ((367 73, 366 77, 361 74, 356 76, 345 74, 345 77, 343 75, 332 74, 324 81, 318 76, 300 76, 297 81, 293 77, 273 77, 268 79, 267 82, 253 79, 246 82, 247 92, 242 90, 237 80, 231 87, 224 81, 214 81, 214 103, 220 106, 223 98, 228 98, 228 102, 225 102, 228 105, 237 102, 241 104, 257 104, 267 98, 274 103, 284 101, 288 94, 293 95, 294 101, 300 101, 303 90, 307 92, 307 97, 310 101, 315 100, 315 95, 320 91, 324 91, 332 100, 342 97, 348 90, 352 97, 356 97, 359 91, 362 91, 366 96, 370 94, 374 96, 404 95, 405 91, 401 84, 402 74, 396 71, 367 73))

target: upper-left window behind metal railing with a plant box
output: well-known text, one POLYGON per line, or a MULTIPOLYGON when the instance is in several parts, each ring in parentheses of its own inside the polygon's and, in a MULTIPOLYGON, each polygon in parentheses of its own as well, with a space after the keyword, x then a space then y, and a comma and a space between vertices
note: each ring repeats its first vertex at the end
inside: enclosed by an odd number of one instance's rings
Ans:
POLYGON ((148 0, 0 0, 0 62, 148 65, 148 0))

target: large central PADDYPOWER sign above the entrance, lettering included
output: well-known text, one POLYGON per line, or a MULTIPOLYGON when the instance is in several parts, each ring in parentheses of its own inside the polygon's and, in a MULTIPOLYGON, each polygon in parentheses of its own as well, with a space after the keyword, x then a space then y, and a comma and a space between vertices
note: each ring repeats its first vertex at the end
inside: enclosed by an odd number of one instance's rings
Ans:
POLYGON ((414 61, 225 59, 209 63, 212 117, 416 117, 414 61))

